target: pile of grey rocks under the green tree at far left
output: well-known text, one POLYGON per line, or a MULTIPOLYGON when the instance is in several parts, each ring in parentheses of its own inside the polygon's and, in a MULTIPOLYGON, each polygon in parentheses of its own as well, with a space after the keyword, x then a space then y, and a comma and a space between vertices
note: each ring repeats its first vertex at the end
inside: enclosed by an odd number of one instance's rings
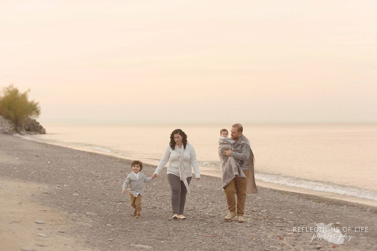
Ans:
POLYGON ((44 134, 46 129, 43 128, 35 119, 29 118, 22 126, 15 126, 12 121, 5 119, 0 115, 0 133, 20 133, 26 134, 44 134))

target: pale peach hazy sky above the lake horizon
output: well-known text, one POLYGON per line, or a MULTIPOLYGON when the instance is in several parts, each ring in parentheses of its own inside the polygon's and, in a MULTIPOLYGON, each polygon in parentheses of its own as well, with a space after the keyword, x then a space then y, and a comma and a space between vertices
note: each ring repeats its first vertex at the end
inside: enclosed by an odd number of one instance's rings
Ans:
POLYGON ((377 122, 375 0, 0 1, 43 122, 377 122))

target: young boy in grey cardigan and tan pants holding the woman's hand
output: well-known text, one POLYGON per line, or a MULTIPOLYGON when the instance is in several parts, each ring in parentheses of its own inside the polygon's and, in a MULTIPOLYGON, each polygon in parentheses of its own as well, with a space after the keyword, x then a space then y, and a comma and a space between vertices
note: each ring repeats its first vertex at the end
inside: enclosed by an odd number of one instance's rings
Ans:
POLYGON ((132 172, 127 175, 126 180, 123 183, 122 194, 126 194, 126 188, 129 185, 130 204, 135 209, 133 210, 133 216, 141 218, 141 197, 143 196, 144 183, 149 183, 153 180, 153 177, 145 177, 140 172, 143 169, 143 163, 139 160, 134 160, 131 163, 132 172))

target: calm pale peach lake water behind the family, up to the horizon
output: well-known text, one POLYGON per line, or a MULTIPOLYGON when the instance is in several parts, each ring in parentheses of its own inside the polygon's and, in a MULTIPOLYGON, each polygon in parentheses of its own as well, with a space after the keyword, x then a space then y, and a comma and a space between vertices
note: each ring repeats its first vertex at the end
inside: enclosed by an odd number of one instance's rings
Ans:
MULTIPOLYGON (((43 124, 23 138, 157 165, 170 133, 181 128, 199 169, 220 173, 219 131, 227 124, 43 124)), ((377 124, 244 124, 262 181, 377 201, 377 124)))

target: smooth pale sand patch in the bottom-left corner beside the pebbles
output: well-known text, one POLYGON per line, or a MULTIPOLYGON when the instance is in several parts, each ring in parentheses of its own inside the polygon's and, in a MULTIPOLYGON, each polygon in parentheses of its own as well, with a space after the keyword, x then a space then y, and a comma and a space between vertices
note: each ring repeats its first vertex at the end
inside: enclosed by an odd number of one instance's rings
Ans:
POLYGON ((48 247, 50 251, 82 247, 81 250, 85 250, 85 243, 67 234, 73 229, 68 223, 70 216, 34 200, 35 195, 48 189, 46 185, 32 182, 0 180, 0 250, 26 247, 36 250, 48 247))

